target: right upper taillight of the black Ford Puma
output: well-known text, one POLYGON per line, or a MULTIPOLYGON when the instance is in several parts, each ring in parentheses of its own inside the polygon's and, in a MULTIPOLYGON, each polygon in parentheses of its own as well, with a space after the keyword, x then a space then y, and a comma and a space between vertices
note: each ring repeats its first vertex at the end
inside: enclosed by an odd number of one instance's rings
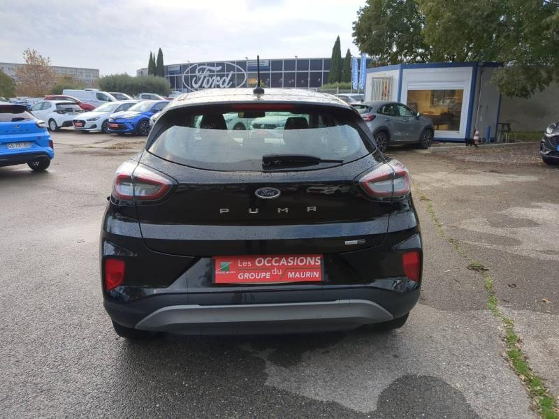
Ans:
POLYGON ((368 172, 359 179, 359 184, 373 198, 398 198, 409 193, 407 169, 397 160, 368 172))

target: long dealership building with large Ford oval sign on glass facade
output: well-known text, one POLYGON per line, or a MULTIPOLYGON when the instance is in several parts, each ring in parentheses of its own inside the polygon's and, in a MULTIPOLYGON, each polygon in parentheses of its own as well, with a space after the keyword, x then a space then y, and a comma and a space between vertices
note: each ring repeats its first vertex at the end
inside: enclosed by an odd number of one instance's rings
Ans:
MULTIPOLYGON (((328 82, 330 58, 261 59, 260 78, 267 87, 317 89, 328 82)), ((255 87, 256 60, 207 61, 165 66, 172 90, 255 87)), ((136 71, 147 75, 147 68, 136 71)))

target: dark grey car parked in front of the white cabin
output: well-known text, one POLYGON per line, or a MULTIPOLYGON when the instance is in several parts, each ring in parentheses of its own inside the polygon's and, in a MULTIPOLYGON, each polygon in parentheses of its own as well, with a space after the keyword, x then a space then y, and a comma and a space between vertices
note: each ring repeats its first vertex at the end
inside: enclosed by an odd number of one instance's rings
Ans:
POLYGON ((433 123, 403 103, 373 101, 352 104, 372 132, 379 149, 389 145, 417 144, 422 149, 433 143, 433 123))

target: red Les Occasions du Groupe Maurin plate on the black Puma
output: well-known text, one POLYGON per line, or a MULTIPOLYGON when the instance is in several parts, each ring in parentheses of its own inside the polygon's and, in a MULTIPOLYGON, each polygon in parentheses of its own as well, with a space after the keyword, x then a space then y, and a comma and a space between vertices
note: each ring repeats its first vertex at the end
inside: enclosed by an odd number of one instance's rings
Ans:
POLYGON ((320 282, 322 255, 216 256, 215 284, 320 282))

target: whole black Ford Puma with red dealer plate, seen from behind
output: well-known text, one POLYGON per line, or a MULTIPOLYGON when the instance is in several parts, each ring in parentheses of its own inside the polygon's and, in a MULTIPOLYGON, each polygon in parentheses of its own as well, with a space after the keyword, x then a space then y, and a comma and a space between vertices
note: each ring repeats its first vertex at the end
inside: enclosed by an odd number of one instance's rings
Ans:
POLYGON ((163 110, 115 173, 100 256, 128 338, 399 328, 423 260, 407 170, 346 103, 283 89, 163 110), (226 125, 271 112, 290 112, 282 130, 226 125))

